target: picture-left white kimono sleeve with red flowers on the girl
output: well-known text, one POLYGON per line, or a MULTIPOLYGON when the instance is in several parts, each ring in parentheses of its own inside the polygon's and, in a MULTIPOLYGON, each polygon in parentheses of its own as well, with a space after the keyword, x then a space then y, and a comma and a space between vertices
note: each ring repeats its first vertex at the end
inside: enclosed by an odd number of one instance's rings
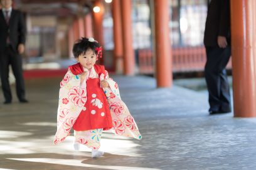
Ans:
POLYGON ((61 143, 70 134, 86 101, 86 89, 80 87, 80 76, 68 70, 60 83, 55 144, 61 143))

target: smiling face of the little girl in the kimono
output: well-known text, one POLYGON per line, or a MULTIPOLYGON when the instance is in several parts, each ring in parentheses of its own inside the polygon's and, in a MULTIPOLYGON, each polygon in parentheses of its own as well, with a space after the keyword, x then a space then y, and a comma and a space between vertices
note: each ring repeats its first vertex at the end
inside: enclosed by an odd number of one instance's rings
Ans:
POLYGON ((78 56, 77 61, 83 66, 83 68, 91 69, 97 61, 96 54, 92 49, 88 49, 85 54, 80 54, 80 56, 78 56))

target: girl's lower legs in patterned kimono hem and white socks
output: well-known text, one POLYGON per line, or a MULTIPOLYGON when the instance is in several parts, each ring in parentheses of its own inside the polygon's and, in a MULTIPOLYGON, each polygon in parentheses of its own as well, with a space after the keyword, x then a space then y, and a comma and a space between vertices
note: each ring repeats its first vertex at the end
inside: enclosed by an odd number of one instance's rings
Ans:
POLYGON ((99 151, 100 139, 102 136, 102 129, 93 129, 88 131, 75 131, 74 130, 74 149, 79 150, 79 144, 84 144, 92 149, 92 158, 98 158, 104 154, 99 151))

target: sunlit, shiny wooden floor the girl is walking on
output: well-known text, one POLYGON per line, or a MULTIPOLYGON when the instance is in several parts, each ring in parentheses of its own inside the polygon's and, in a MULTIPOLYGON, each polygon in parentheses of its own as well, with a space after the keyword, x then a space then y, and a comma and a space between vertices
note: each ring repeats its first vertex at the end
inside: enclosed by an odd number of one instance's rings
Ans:
POLYGON ((0 105, 0 169, 256 169, 255 119, 209 116, 205 93, 156 89, 153 78, 114 79, 141 141, 105 133, 97 159, 85 146, 73 151, 72 135, 55 146, 61 78, 30 79, 28 104, 13 94, 12 104, 0 105))

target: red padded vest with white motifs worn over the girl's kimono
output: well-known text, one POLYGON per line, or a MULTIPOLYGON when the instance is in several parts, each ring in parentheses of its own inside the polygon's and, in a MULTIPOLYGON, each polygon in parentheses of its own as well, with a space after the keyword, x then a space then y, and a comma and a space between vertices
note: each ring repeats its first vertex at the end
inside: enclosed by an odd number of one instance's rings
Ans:
MULTIPOLYGON (((87 131, 90 129, 111 129, 113 127, 109 109, 109 103, 103 89, 100 87, 100 75, 105 74, 104 66, 94 65, 98 78, 88 78, 86 81, 87 101, 79 114, 73 129, 75 131, 87 131)), ((73 74, 83 72, 82 66, 78 63, 70 66, 73 74)))

